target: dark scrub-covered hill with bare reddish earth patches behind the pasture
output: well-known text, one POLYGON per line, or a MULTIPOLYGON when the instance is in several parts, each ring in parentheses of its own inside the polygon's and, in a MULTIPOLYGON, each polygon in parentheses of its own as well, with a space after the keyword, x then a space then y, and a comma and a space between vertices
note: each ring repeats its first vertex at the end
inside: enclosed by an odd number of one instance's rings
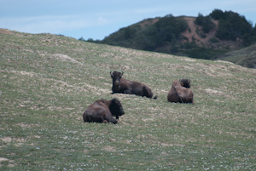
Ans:
MULTIPOLYGON (((88 41, 215 60, 223 54, 255 43, 256 27, 240 14, 214 9, 207 16, 174 17, 168 14, 142 20, 113 32, 102 41, 88 41)), ((252 67, 247 64, 243 66, 252 67)))

